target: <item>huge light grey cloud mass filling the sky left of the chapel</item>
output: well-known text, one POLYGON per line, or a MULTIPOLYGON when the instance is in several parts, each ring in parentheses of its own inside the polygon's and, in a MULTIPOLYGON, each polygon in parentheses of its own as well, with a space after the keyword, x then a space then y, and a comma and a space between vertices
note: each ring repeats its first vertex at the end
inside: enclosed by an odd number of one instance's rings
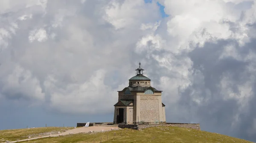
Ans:
POLYGON ((156 3, 131 0, 8 6, 1 12, 1 96, 68 113, 113 110, 116 91, 133 75, 131 65, 123 65, 147 32, 141 23, 160 18, 156 3), (20 10, 13 11, 17 6, 20 10), (97 103, 101 106, 90 108, 97 103))

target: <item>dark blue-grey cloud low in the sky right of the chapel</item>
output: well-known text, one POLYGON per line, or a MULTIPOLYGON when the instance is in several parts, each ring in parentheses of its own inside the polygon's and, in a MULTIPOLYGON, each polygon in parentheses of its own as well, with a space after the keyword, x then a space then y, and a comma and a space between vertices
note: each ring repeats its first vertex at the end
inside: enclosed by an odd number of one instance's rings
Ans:
MULTIPOLYGON (((255 118, 255 114, 252 112, 255 93, 252 90, 249 96, 245 95, 245 97, 242 97, 244 89, 239 89, 239 87, 247 84, 250 80, 252 82, 250 82, 248 86, 254 89, 255 80, 251 78, 255 76, 255 73, 247 69, 254 61, 240 61, 233 57, 219 59, 220 53, 223 52, 222 50, 227 44, 234 43, 234 45, 236 45, 235 47, 239 50, 239 55, 246 57, 247 54, 249 54, 246 51, 254 49, 255 42, 256 40, 252 39, 250 43, 240 48, 236 41, 221 40, 218 41, 217 44, 206 43, 204 48, 196 48, 189 54, 194 63, 193 68, 199 70, 204 77, 201 84, 192 84, 191 89, 201 91, 201 94, 198 96, 203 98, 203 100, 201 104, 196 104, 192 100, 193 97, 191 93, 184 92, 181 94, 182 98, 179 102, 180 106, 187 107, 186 109, 190 111, 191 114, 195 113, 198 118, 197 120, 202 124, 202 129, 205 127, 205 130, 209 129, 209 131, 212 132, 219 132, 231 136, 236 135, 236 137, 247 140, 256 140, 255 137, 247 132, 252 127, 252 120, 255 118), (203 69, 197 65, 201 65, 203 69), (234 94, 241 96, 241 98, 225 98, 227 95, 225 95, 225 93, 222 92, 223 89, 221 89, 221 80, 223 80, 225 76, 228 76, 228 80, 231 83, 226 88, 231 90, 234 94), (210 96, 208 97, 206 96, 207 90, 210 92, 210 96), (242 100, 247 100, 247 102, 240 103, 242 100), (184 103, 184 101, 187 102, 184 103), (236 121, 236 118, 238 118, 239 121, 236 121), (233 122, 235 123, 234 125, 232 124, 233 122)), ((253 131, 255 132, 255 129, 250 132, 253 131)))

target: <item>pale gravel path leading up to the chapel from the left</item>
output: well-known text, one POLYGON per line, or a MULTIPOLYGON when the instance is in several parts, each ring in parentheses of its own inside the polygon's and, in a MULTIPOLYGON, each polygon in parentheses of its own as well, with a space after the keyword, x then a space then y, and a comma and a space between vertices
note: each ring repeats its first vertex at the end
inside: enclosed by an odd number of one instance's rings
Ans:
MULTIPOLYGON (((90 132, 90 131, 100 132, 100 131, 102 131, 102 129, 104 129, 104 131, 109 131, 111 129, 120 129, 120 128, 118 128, 116 126, 89 126, 89 127, 81 127, 81 128, 76 128, 76 129, 70 129, 70 130, 68 130, 66 132, 62 132, 60 134, 46 135, 46 136, 42 136, 42 137, 32 137, 32 138, 27 138, 27 139, 23 139, 23 140, 10 141, 9 143, 16 143, 16 142, 27 141, 27 140, 35 140, 35 139, 44 138, 44 137, 58 137, 60 135, 87 133, 87 132, 90 132)), ((6 143, 6 142, 3 142, 3 143, 6 143)))

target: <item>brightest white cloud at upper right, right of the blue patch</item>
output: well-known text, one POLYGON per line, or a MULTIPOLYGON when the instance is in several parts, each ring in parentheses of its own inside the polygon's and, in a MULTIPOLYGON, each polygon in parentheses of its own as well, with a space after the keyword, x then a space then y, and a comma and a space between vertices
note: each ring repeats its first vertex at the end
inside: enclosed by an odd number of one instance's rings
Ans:
POLYGON ((177 38, 175 46, 170 49, 174 53, 193 50, 187 46, 190 41, 199 42, 202 46, 209 39, 228 39, 231 36, 238 39, 241 44, 248 42, 246 26, 239 22, 241 11, 247 9, 237 11, 236 7, 222 0, 162 0, 162 3, 166 13, 173 17, 167 22, 167 30, 170 36, 177 38), (238 23, 240 32, 233 33, 230 31, 230 25, 223 21, 238 23))

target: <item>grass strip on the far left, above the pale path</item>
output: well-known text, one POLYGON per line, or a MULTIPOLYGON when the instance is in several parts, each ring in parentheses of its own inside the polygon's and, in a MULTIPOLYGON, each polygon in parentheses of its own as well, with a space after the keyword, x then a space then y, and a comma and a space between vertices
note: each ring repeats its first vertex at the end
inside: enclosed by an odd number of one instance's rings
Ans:
POLYGON ((56 134, 58 132, 64 132, 68 129, 74 129, 74 127, 43 127, 43 128, 34 128, 34 129, 7 129, 7 130, 0 130, 0 143, 3 142, 2 140, 17 140, 17 139, 26 139, 30 137, 39 137, 44 136, 45 134, 52 133, 56 134))

